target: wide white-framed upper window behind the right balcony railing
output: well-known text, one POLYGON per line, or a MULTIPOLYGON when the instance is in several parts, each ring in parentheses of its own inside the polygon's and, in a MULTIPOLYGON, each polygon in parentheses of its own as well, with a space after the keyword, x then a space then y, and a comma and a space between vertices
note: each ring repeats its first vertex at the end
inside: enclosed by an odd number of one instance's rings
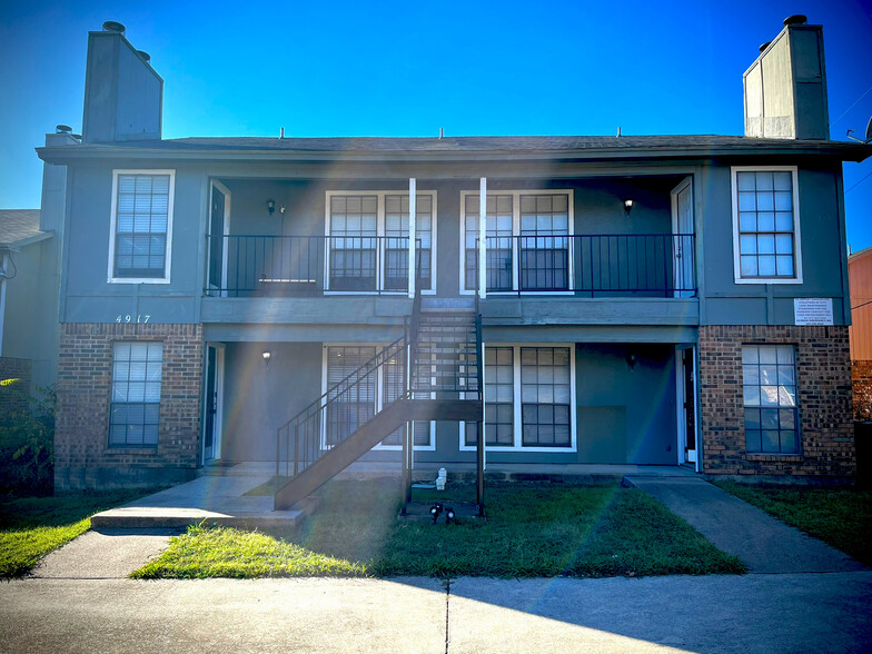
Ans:
MULTIPOLYGON (((480 197, 462 194, 463 290, 478 287, 480 197)), ((571 290, 572 191, 502 191, 487 195, 488 291, 571 290)))

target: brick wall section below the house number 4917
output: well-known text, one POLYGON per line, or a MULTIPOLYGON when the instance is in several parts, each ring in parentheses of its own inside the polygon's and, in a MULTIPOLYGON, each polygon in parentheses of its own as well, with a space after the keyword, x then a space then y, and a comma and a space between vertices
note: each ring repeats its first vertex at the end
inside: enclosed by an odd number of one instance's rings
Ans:
POLYGON ((194 475, 199 460, 200 325, 61 326, 54 435, 56 488, 147 486, 194 475), (109 447, 112 344, 164 344, 157 448, 109 447))

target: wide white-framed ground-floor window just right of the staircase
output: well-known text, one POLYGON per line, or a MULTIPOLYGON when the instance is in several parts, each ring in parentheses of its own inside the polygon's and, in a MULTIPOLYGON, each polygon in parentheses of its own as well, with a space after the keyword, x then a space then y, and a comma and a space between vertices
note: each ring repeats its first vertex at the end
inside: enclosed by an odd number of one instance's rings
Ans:
MULTIPOLYGON (((488 448, 572 449, 571 346, 485 348, 485 444, 488 448)), ((476 445, 476 426, 464 427, 464 448, 476 445)))

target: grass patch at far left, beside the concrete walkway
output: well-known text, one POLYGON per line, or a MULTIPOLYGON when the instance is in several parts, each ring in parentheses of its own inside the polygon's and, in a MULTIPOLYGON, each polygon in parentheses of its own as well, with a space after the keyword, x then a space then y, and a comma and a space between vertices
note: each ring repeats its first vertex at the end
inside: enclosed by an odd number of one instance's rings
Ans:
POLYGON ((0 496, 0 578, 30 572, 40 558, 87 532, 95 513, 153 490, 0 496))

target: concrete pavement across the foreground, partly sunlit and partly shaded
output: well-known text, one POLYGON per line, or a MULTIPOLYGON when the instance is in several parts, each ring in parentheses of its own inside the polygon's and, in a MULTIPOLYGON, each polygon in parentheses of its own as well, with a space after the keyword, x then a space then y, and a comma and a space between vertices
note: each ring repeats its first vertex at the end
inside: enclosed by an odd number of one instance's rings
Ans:
POLYGON ((866 652, 872 573, 628 579, 24 579, 0 651, 866 652))

